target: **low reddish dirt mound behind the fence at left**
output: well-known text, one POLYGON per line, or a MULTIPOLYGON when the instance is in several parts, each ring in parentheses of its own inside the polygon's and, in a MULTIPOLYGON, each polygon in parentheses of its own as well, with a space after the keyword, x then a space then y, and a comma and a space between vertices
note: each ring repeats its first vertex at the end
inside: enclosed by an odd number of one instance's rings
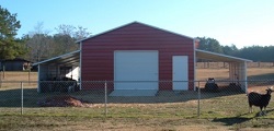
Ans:
POLYGON ((91 107, 92 104, 69 95, 53 96, 37 102, 41 107, 91 107))

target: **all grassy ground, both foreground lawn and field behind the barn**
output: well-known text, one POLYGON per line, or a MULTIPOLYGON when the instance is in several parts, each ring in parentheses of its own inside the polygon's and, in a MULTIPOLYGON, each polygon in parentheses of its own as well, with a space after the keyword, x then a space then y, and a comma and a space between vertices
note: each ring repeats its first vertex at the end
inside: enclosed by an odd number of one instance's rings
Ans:
MULTIPOLYGON (((274 69, 249 69, 249 79, 274 78, 274 69)), ((36 81, 31 73, 31 81, 36 81)), ((199 69, 197 76, 205 80, 228 78, 227 69, 199 69)), ((27 72, 7 72, 2 81, 28 81, 27 72)), ((0 130, 274 130, 274 99, 267 115, 259 117, 259 109, 248 114, 247 96, 242 93, 202 93, 201 116, 197 116, 197 92, 173 94, 161 92, 156 97, 109 97, 107 116, 102 92, 77 92, 71 96, 92 99, 89 107, 38 107, 37 100, 60 93, 37 94, 36 83, 24 84, 24 109, 21 115, 20 83, 2 83, 0 88, 0 130), (142 103, 132 102, 138 99, 142 103), (3 106, 4 104, 4 106, 3 106)), ((265 85, 254 85, 263 92, 265 85)), ((271 84, 270 84, 271 85, 271 84)))

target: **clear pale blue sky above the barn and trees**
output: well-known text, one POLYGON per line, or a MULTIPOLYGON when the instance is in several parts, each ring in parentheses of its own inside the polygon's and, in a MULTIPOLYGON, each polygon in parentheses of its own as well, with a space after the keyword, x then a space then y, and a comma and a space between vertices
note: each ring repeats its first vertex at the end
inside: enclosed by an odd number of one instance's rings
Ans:
POLYGON ((66 24, 96 35, 137 21, 224 46, 274 45, 274 0, 0 0, 0 5, 18 14, 18 37, 38 23, 50 34, 66 24))

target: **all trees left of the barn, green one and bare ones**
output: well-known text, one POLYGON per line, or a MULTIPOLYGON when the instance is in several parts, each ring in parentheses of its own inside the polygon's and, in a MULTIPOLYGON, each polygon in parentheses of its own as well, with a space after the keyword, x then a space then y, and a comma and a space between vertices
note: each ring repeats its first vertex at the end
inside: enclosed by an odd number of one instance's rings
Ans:
POLYGON ((37 23, 34 31, 16 38, 21 27, 16 14, 11 14, 0 5, 0 60, 24 58, 37 62, 55 56, 79 49, 76 40, 89 37, 91 33, 82 26, 61 24, 55 28, 56 34, 44 29, 43 23, 37 23))

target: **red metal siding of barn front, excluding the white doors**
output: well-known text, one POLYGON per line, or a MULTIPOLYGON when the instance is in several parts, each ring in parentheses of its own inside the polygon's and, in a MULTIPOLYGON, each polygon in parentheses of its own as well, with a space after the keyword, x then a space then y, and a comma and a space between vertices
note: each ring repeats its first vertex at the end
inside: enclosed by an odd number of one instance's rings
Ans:
POLYGON ((192 38, 133 23, 82 41, 82 81, 113 81, 115 50, 158 50, 160 81, 172 80, 172 56, 189 56, 189 80, 194 80, 192 38))

